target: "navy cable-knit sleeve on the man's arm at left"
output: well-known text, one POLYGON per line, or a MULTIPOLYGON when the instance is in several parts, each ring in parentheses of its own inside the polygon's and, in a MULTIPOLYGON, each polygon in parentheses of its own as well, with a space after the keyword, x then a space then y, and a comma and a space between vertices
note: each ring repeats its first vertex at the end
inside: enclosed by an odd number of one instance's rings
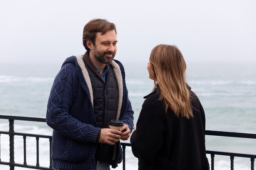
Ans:
POLYGON ((69 114, 73 104, 74 71, 73 64, 65 64, 54 79, 47 104, 46 122, 67 138, 80 142, 96 142, 99 128, 84 124, 69 114))

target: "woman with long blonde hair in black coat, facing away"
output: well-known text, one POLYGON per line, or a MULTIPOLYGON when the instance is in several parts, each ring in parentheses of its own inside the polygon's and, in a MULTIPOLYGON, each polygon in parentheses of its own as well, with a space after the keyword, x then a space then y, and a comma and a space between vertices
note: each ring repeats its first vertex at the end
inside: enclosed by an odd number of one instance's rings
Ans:
POLYGON ((209 170, 205 115, 185 78, 186 63, 176 46, 157 45, 148 63, 155 90, 146 100, 131 136, 139 170, 209 170))

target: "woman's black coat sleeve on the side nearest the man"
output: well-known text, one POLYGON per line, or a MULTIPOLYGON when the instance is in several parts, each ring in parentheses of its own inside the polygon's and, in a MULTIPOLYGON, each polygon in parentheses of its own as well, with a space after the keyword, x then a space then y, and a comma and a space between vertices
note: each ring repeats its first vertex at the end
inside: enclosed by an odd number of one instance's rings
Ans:
POLYGON ((163 144, 163 113, 154 104, 145 103, 137 121, 137 128, 130 138, 132 153, 135 157, 153 161, 163 144))

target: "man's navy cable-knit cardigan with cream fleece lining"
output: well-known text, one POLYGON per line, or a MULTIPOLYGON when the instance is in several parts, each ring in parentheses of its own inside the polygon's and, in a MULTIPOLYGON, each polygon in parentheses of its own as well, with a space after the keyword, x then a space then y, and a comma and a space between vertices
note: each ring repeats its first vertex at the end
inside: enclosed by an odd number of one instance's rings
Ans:
MULTIPOLYGON (((47 104, 46 121, 53 128, 52 166, 60 169, 94 169, 99 128, 94 117, 93 94, 83 56, 68 57, 54 79, 47 104)), ((128 99, 123 65, 114 60, 113 70, 119 86, 117 119, 132 132, 133 111, 128 99), (119 77, 120 76, 120 77, 119 77)), ((116 157, 110 165, 117 167, 123 159, 118 142, 116 157), (119 147, 118 147, 119 146, 119 147)))

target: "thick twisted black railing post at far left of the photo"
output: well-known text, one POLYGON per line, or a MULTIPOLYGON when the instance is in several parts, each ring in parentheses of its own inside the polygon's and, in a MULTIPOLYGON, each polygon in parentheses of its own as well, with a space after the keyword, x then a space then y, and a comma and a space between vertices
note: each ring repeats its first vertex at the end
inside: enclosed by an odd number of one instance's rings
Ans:
MULTIPOLYGON (((14 161, 14 119, 9 119, 9 150, 10 150, 10 161, 9 163, 15 163, 14 161)), ((10 170, 14 170, 14 166, 10 165, 10 170)))

